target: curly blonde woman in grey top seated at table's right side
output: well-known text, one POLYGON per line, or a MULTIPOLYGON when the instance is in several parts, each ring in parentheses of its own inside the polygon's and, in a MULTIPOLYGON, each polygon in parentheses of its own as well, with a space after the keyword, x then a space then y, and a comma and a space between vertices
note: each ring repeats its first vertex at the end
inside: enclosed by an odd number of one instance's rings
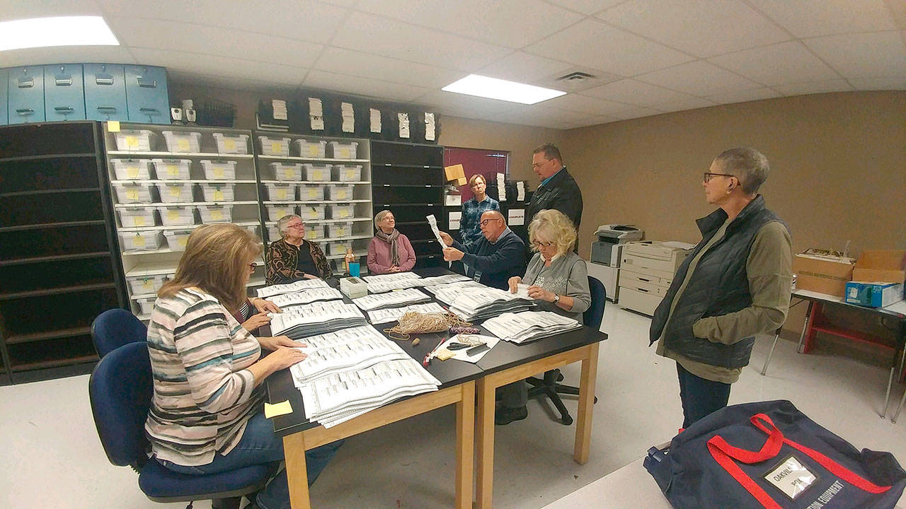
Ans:
MULTIPOLYGON (((528 262, 525 277, 509 279, 510 292, 519 283, 528 284, 528 296, 554 304, 554 311, 582 322, 582 313, 592 305, 585 261, 573 253, 575 226, 559 210, 542 210, 528 226, 528 238, 535 256, 528 262)), ((494 415, 495 424, 504 425, 528 417, 525 402, 528 388, 519 380, 501 389, 503 399, 494 415)))

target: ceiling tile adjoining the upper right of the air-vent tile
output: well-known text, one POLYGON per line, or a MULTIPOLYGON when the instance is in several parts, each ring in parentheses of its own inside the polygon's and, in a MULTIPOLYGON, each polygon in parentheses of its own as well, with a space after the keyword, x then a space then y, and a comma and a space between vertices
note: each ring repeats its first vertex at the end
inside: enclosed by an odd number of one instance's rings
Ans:
POLYGON ((553 37, 528 46, 525 51, 621 76, 633 76, 692 60, 689 55, 595 19, 573 24, 553 37))

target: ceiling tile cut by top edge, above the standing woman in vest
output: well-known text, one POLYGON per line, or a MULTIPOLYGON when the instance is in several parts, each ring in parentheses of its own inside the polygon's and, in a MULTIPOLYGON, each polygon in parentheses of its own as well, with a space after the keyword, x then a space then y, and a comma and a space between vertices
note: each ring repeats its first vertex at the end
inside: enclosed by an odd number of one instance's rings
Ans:
POLYGON ((631 0, 598 17, 699 57, 790 39, 780 27, 739 0, 631 0))

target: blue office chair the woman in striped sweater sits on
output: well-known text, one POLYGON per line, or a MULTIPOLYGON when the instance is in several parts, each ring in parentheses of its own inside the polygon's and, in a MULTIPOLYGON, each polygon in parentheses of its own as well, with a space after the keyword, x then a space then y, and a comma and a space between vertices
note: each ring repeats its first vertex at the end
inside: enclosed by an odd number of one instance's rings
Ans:
POLYGON ((107 459, 116 466, 131 466, 139 473, 141 491, 154 502, 212 499, 214 509, 238 509, 243 495, 260 490, 277 465, 255 465, 231 472, 186 475, 173 472, 149 458, 145 419, 153 382, 148 346, 132 342, 111 351, 94 367, 88 381, 94 424, 107 459))

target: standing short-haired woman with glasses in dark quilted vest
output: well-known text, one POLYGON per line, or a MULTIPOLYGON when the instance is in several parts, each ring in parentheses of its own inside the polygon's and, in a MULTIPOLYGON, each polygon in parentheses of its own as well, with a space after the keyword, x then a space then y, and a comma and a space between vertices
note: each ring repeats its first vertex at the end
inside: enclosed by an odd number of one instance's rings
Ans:
POLYGON ((651 319, 651 343, 677 363, 684 428, 727 406, 756 334, 786 321, 793 253, 789 229, 758 194, 769 170, 756 149, 714 159, 702 187, 718 209, 697 221, 701 240, 651 319))

